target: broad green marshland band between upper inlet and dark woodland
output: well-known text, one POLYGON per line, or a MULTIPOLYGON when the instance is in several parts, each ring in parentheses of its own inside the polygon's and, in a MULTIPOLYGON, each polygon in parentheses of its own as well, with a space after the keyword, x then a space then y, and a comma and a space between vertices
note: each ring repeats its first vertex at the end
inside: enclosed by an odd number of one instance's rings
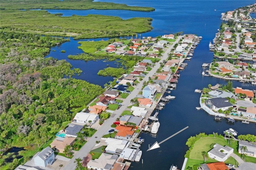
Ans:
POLYGON ((22 27, 22 30, 28 32, 52 36, 73 36, 77 39, 127 36, 127 34, 143 33, 152 29, 151 18, 124 20, 116 16, 91 14, 59 17, 44 10, 1 10, 1 14, 5 16, 1 18, 1 26, 10 26, 15 29, 22 27))

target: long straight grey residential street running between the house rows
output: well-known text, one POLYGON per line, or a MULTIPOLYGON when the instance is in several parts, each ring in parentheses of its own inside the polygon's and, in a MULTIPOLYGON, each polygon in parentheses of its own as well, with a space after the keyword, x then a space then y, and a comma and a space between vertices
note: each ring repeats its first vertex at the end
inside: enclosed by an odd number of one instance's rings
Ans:
POLYGON ((102 135, 105 134, 106 130, 108 130, 108 128, 121 115, 121 113, 123 113, 123 111, 126 109, 126 107, 130 105, 130 100, 135 98, 135 96, 140 92, 140 90, 143 86, 143 82, 148 81, 148 78, 155 74, 157 69, 160 67, 159 63, 163 62, 163 60, 166 60, 168 58, 168 53, 171 51, 174 44, 179 42, 179 40, 181 38, 182 38, 182 36, 178 36, 178 39, 175 42, 173 42, 173 44, 171 46, 169 46, 169 48, 163 54, 162 59, 158 63, 156 63, 155 67, 152 68, 152 70, 144 77, 144 79, 142 81, 140 81, 140 83, 131 92, 131 94, 126 99, 123 100, 123 103, 122 103, 123 106, 121 106, 119 110, 116 110, 110 116, 110 118, 108 118, 108 120, 106 120, 105 123, 103 123, 101 125, 101 128, 98 129, 98 131, 91 137, 91 139, 80 149, 80 151, 78 151, 74 155, 74 157, 69 161, 69 163, 63 168, 64 170, 75 169, 76 168, 76 163, 74 163, 75 159, 76 158, 83 159, 91 151, 91 149, 94 147, 94 145, 96 144, 96 141, 100 141, 100 138, 102 137, 102 135))

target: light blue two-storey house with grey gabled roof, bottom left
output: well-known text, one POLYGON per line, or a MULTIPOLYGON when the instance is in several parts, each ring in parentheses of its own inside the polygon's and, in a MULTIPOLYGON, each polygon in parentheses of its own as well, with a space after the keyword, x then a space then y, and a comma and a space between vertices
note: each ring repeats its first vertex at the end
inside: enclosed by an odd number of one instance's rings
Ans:
POLYGON ((54 151, 50 147, 44 148, 41 152, 37 153, 34 158, 36 166, 46 167, 52 165, 55 161, 54 151))

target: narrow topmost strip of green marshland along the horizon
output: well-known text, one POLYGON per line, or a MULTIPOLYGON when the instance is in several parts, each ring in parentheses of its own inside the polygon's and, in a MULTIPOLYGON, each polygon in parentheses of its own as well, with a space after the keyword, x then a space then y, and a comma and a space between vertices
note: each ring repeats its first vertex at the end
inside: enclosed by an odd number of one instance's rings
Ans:
POLYGON ((1 1, 5 9, 123 9, 131 11, 154 11, 151 7, 128 6, 109 2, 93 2, 93 0, 12 0, 1 1))

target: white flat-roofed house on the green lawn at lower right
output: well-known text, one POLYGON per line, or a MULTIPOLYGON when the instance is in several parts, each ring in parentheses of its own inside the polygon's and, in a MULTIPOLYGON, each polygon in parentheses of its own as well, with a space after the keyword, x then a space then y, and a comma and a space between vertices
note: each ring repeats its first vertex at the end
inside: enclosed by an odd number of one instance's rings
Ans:
POLYGON ((232 154, 234 149, 229 146, 221 146, 219 144, 215 144, 208 152, 210 158, 215 159, 220 162, 224 162, 229 158, 229 155, 232 154))

